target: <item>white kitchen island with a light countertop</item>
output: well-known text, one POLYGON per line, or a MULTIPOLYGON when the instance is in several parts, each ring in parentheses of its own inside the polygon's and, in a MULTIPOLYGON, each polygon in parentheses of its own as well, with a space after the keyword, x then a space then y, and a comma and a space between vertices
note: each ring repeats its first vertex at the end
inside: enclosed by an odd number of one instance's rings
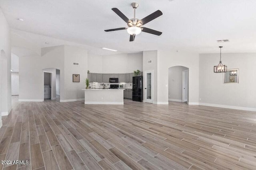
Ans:
POLYGON ((124 89, 82 89, 84 104, 124 104, 124 89))

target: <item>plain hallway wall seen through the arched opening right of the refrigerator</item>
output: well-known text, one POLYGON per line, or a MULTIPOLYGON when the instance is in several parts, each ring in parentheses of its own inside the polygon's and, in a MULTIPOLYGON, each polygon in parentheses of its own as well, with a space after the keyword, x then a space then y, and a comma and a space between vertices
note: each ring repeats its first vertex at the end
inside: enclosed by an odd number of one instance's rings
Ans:
POLYGON ((174 66, 168 69, 168 98, 170 101, 182 101, 182 72, 188 70, 184 66, 174 66))

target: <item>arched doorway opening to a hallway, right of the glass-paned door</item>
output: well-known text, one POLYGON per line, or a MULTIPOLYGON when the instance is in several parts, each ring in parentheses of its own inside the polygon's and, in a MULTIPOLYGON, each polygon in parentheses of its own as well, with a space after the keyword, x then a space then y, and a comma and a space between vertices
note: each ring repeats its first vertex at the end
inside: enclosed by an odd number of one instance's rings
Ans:
POLYGON ((188 104, 189 68, 172 66, 168 68, 168 100, 188 104))

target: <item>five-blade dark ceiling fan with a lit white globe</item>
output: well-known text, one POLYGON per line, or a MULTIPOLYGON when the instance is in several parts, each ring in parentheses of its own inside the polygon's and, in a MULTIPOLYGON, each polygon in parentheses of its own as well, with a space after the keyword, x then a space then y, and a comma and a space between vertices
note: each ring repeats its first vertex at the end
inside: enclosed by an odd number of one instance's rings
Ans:
POLYGON ((138 8, 139 4, 136 2, 133 2, 132 8, 134 9, 134 18, 128 19, 120 10, 117 8, 112 8, 112 10, 120 16, 128 25, 128 27, 121 27, 121 28, 115 28, 115 29, 106 29, 104 31, 117 31, 122 29, 127 29, 127 32, 130 34, 130 41, 134 41, 135 35, 138 35, 142 32, 151 33, 154 35, 161 35, 162 32, 156 31, 154 29, 150 29, 147 27, 142 27, 142 25, 145 25, 146 23, 158 18, 159 16, 163 15, 163 13, 160 10, 157 10, 156 12, 153 12, 152 14, 146 16, 145 18, 139 20, 135 17, 136 14, 136 8, 138 8))

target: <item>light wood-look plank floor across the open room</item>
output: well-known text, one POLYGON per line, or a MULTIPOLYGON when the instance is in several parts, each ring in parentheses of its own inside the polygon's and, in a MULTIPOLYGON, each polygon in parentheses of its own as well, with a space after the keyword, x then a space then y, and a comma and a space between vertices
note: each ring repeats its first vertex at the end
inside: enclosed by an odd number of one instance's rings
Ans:
POLYGON ((18 102, 0 129, 0 169, 256 169, 256 112, 179 102, 18 102))

